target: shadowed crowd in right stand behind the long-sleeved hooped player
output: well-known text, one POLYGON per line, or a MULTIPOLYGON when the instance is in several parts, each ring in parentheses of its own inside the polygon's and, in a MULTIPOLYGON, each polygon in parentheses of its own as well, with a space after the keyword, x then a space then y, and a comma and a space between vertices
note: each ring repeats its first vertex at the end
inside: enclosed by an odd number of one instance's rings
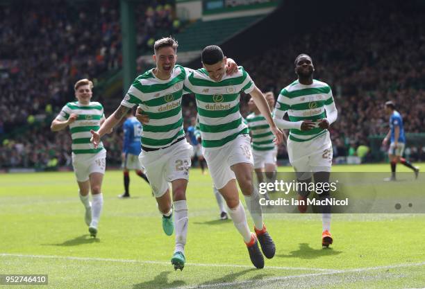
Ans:
MULTIPOLYGON (((425 107, 418 105, 425 99, 424 12, 369 5, 365 13, 297 33, 242 63, 260 89, 277 95, 296 79, 294 58, 309 54, 315 78, 331 85, 338 107, 331 126, 336 156, 347 155, 351 143, 367 145, 370 135, 387 133, 386 100, 397 103, 406 132, 423 132, 425 125, 425 107)), ((424 159, 422 148, 418 154, 424 159)))

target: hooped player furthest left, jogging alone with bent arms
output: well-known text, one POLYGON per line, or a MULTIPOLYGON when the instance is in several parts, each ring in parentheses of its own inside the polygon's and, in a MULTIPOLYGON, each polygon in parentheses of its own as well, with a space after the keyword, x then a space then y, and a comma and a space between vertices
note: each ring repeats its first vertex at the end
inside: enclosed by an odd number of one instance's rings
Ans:
POLYGON ((81 79, 74 85, 77 101, 67 103, 56 119, 51 130, 58 132, 69 126, 72 137, 72 166, 79 188, 80 200, 85 207, 85 223, 89 226, 90 236, 96 237, 99 219, 103 207, 101 186, 106 166, 106 150, 101 142, 97 148, 90 143, 90 130, 98 130, 105 121, 103 106, 90 101, 93 83, 81 79), (92 203, 89 200, 92 192, 92 203))

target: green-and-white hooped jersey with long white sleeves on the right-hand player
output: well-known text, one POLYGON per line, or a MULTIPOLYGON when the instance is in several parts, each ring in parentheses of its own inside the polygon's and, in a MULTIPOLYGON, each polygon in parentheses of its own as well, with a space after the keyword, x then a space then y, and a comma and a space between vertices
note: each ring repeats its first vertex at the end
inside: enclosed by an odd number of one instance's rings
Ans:
MULTIPOLYGON (((332 90, 325 82, 313 80, 311 85, 302 85, 295 80, 279 94, 274 117, 283 119, 288 112, 290 121, 319 121, 326 118, 324 106, 332 103, 332 90)), ((289 138, 292 141, 310 141, 326 131, 319 127, 306 131, 291 129, 289 138)))

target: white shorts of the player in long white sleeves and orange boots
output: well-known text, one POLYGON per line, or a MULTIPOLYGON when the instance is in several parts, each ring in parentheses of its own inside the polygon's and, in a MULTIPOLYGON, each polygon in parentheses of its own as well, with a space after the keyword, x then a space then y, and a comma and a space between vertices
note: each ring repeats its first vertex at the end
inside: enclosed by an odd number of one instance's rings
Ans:
POLYGON ((311 141, 288 138, 288 156, 298 179, 309 179, 312 172, 330 172, 333 150, 329 132, 311 141))

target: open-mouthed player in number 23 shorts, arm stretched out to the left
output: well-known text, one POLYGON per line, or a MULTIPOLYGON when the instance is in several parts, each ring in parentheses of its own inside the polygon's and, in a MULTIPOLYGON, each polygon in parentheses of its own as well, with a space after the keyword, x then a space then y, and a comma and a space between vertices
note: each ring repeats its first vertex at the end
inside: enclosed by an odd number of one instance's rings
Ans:
MULTIPOLYGON (((153 45, 156 67, 135 79, 117 110, 106 119, 97 132, 92 130, 95 146, 122 116, 139 105, 147 121, 142 122, 142 152, 139 160, 145 168, 158 209, 163 214, 163 230, 171 236, 176 229, 176 243, 171 262, 183 270, 188 234, 186 188, 191 165, 192 146, 185 139, 181 98, 187 71, 176 65, 177 42, 172 37, 157 40, 153 45), (169 183, 172 186, 171 201, 169 183), (174 215, 175 224, 172 220, 174 215)), ((235 66, 235 64, 234 64, 235 66)))

